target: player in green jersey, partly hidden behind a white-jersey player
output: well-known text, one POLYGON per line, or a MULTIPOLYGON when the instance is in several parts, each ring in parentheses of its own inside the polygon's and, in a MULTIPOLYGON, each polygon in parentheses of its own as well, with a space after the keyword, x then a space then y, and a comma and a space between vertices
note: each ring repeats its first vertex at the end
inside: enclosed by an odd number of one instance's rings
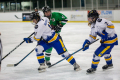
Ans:
MULTIPOLYGON (((54 29, 55 32, 58 33, 59 37, 61 38, 60 32, 63 26, 68 21, 67 17, 64 14, 59 12, 51 12, 51 8, 49 6, 44 6, 42 8, 42 11, 44 13, 44 17, 49 18, 52 29, 54 29)), ((51 65, 50 56, 51 56, 52 49, 53 48, 51 47, 50 49, 46 50, 46 53, 45 53, 45 61, 48 66, 51 65)))

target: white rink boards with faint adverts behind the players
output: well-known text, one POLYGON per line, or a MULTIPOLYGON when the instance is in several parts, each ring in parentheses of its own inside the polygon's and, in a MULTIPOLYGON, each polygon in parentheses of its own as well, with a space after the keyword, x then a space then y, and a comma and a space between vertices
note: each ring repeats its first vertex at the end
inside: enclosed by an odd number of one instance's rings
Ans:
MULTIPOLYGON (((64 14, 68 21, 87 21, 88 11, 52 11, 52 12, 60 12, 64 14)), ((120 10, 98 10, 98 12, 104 13, 100 17, 104 17, 106 19, 112 21, 120 21, 120 10), (101 12, 100 12, 101 11, 101 12), (111 12, 111 13, 110 13, 111 12)), ((22 19, 17 19, 15 15, 19 18, 22 18, 22 13, 31 13, 29 11, 24 12, 6 12, 0 13, 0 21, 22 21, 22 19)))

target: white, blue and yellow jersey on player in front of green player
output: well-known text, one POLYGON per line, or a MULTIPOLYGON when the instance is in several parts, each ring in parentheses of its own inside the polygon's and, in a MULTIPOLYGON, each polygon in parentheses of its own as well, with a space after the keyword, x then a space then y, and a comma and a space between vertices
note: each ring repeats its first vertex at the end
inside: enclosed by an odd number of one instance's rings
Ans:
POLYGON ((40 41, 42 37, 44 40, 53 42, 57 39, 58 34, 51 29, 49 24, 49 19, 47 17, 42 17, 40 21, 34 27, 35 35, 31 37, 32 41, 40 41))

